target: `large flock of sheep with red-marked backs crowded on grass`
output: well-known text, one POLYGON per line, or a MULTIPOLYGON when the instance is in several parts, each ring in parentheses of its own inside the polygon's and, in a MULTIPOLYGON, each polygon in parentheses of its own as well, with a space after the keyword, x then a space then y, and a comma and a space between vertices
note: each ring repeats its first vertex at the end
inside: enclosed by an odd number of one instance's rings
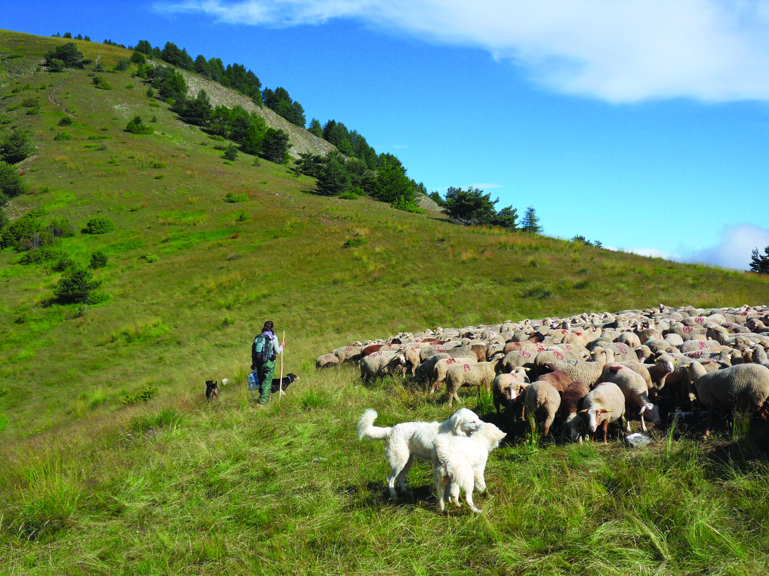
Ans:
POLYGON ((668 412, 714 409, 769 415, 769 306, 692 306, 568 318, 524 319, 493 326, 427 329, 386 340, 356 341, 320 356, 316 366, 360 366, 361 379, 401 373, 445 384, 456 399, 462 386, 491 390, 497 412, 533 416, 548 435, 561 423, 581 442, 584 430, 630 419, 661 424, 668 412))

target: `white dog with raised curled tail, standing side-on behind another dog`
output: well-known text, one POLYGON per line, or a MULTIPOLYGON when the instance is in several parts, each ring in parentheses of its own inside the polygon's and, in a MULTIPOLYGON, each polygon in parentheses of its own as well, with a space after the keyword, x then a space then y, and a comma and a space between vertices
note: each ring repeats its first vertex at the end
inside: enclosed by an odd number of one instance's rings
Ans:
POLYGON ((398 478, 401 492, 408 492, 406 473, 414 463, 414 456, 421 460, 433 460, 435 439, 438 436, 466 436, 483 424, 475 412, 466 408, 458 409, 451 418, 443 422, 401 422, 381 428, 374 425, 376 419, 376 410, 368 409, 363 412, 358 422, 358 439, 384 440, 384 457, 391 468, 387 485, 392 498, 398 498, 395 492, 395 478, 398 478))

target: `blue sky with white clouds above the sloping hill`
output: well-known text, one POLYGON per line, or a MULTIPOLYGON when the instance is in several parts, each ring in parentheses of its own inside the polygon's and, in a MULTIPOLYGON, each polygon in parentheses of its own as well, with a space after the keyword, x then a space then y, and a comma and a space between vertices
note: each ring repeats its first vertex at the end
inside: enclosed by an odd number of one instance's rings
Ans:
POLYGON ((545 232, 744 267, 769 244, 764 2, 35 2, 2 28, 218 56, 545 232), (746 12, 747 11, 747 12, 746 12))

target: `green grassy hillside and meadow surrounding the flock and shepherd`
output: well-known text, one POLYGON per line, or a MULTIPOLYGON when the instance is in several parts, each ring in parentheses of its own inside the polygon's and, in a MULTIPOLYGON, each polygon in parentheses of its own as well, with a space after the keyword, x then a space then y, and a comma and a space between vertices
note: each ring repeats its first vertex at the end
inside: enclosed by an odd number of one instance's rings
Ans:
MULTIPOLYGON (((0 61, 3 135, 23 127, 37 145, 18 166, 30 193, 7 211, 78 230, 112 219, 113 232, 61 245, 81 263, 108 253, 96 276, 109 298, 62 304, 52 263, 0 252, 0 574, 766 571, 766 468, 739 452, 738 429, 721 452, 684 435, 641 454, 511 434, 489 464, 488 515, 440 517, 427 465, 409 475, 414 498, 386 501, 381 446, 358 445, 354 427, 368 406, 385 422, 451 411, 408 382, 314 369, 403 329, 767 302, 766 277, 317 197, 286 166, 226 164, 130 69, 102 74, 109 91, 88 69, 40 69, 62 41, 0 32, 0 57, 22 55, 0 61), (38 114, 17 107, 30 97, 38 114), (73 139, 54 141, 65 110, 73 139), (155 116, 155 134, 125 133, 135 114, 155 116), (352 237, 365 245, 343 248, 352 237), (286 330, 301 381, 258 409, 239 385, 265 319, 286 330), (209 406, 203 382, 222 377, 235 384, 209 406), (148 385, 158 398, 122 404, 148 385)), ((128 55, 77 43, 104 65, 128 55)), ((490 412, 485 398, 466 406, 490 412)))

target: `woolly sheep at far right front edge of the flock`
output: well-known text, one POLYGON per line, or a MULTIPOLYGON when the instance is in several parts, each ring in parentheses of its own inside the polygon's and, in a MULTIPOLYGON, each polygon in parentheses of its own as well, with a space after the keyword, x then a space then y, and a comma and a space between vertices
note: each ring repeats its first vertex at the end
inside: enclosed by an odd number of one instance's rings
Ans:
POLYGON ((714 408, 757 410, 769 398, 769 368, 761 364, 739 364, 707 372, 701 363, 692 362, 689 372, 697 397, 707 406, 706 437, 711 432, 714 408))

